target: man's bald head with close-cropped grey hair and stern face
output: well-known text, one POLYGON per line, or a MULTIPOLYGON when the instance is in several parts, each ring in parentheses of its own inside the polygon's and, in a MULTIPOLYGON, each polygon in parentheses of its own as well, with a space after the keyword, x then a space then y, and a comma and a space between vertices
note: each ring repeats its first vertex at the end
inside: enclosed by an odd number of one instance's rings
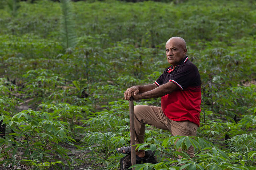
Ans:
POLYGON ((173 67, 177 66, 187 53, 187 49, 182 44, 180 39, 175 38, 168 40, 165 45, 165 50, 167 61, 173 67))

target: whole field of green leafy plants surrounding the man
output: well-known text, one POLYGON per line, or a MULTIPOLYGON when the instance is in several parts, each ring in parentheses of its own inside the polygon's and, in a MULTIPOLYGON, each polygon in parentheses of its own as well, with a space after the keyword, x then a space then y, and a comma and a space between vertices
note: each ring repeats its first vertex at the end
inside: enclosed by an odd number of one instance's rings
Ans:
POLYGON ((158 163, 136 170, 256 169, 255 8, 251 0, 1 0, 1 169, 118 169, 115 148, 130 137, 123 92, 161 75, 172 36, 186 40, 201 75, 200 127, 196 138, 147 127, 139 148, 156 151, 158 163), (175 148, 191 144, 196 157, 177 159, 175 148))

